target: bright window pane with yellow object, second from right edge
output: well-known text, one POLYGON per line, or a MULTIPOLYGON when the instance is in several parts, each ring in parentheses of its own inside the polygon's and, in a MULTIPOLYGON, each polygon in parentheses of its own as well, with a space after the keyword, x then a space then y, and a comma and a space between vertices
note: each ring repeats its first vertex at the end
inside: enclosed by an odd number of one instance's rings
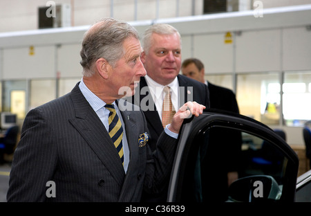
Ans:
POLYGON ((238 74, 236 98, 240 113, 266 125, 279 125, 279 73, 238 74))

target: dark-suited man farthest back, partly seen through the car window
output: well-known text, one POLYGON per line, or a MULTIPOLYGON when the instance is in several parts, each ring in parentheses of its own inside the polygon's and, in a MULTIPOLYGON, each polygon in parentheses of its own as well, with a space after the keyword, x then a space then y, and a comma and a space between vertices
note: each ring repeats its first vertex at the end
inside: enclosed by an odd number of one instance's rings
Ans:
MULTIPOLYGON (((182 62, 182 74, 188 78, 198 80, 205 83, 209 88, 209 102, 211 109, 220 109, 239 113, 238 102, 234 92, 230 89, 217 86, 205 80, 204 64, 196 59, 189 58, 182 62)), ((241 132, 235 132, 232 129, 211 129, 209 138, 207 156, 205 157, 205 186, 210 186, 206 189, 205 201, 226 201, 227 187, 238 179, 239 155, 241 152, 241 132), (209 172, 207 172, 209 171, 209 172), (208 176, 208 174, 212 174, 208 176), (220 190, 221 188, 225 188, 220 190), (208 197, 208 198, 207 198, 208 197), (209 200, 210 199, 210 200, 209 200)), ((204 199, 204 197, 203 197, 204 199)))

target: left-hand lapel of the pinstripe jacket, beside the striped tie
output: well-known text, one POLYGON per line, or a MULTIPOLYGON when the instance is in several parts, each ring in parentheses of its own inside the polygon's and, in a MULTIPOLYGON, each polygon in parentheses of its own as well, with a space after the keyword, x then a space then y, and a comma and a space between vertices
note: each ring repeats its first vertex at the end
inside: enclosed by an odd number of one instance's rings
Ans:
POLYGON ((71 91, 71 98, 76 118, 70 119, 70 123, 97 154, 117 183, 122 186, 125 173, 120 157, 102 121, 84 98, 78 84, 71 91), (115 161, 120 161, 120 163, 115 163, 115 161))

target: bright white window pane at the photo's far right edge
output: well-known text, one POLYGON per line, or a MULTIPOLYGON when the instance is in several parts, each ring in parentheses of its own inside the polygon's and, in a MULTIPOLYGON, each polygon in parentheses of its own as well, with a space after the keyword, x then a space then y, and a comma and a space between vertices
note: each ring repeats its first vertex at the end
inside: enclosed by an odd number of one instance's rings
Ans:
POLYGON ((303 126, 311 120, 311 71, 284 73, 283 116, 287 126, 303 126))

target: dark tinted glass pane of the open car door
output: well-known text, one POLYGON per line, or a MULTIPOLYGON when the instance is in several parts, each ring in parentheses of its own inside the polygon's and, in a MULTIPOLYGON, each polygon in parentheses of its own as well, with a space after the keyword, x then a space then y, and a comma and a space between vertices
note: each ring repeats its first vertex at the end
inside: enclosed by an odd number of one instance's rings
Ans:
POLYGON ((280 199, 288 159, 269 141, 233 128, 208 127, 193 143, 182 200, 280 199))

